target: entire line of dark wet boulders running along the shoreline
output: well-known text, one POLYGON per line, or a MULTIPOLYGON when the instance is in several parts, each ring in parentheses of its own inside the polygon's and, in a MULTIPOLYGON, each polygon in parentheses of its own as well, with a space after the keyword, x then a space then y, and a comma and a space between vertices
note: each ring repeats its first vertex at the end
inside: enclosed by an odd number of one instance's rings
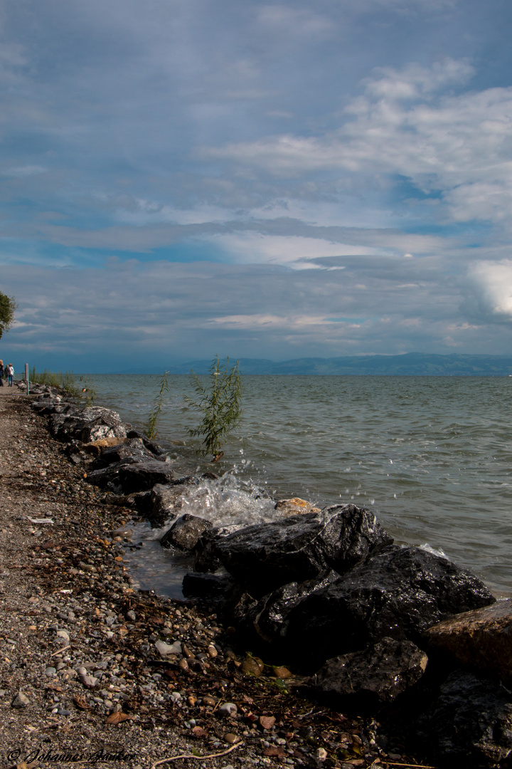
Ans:
MULTIPOLYGON (((74 464, 83 463, 87 481, 172 524, 162 545, 193 561, 183 594, 214 608, 230 638, 250 649, 247 674, 259 678, 262 660, 280 661, 302 694, 342 718, 378 715, 385 732, 399 730, 401 741, 438 765, 508 765, 512 611, 474 575, 427 549, 395 544, 372 511, 352 504, 319 511, 293 500, 277 503, 279 518, 270 523, 213 526, 183 514, 183 494, 199 479, 174 478, 164 451, 115 412, 52 394, 34 407, 48 414, 51 434, 74 464), (499 641, 489 629, 494 606, 501 607, 499 641), (471 646, 475 623, 485 642, 471 646), (482 645, 486 655, 475 651, 482 645)), ((190 668, 183 644, 159 643, 170 664, 190 668)), ((274 681, 282 685, 284 675, 274 681)))

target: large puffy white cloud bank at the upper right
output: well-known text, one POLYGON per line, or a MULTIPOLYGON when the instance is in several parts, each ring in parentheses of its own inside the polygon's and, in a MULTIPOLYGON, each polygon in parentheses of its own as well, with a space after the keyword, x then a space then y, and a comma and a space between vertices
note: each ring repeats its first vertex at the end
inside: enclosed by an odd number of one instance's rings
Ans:
POLYGON ((512 88, 438 95, 473 68, 451 59, 431 68, 381 68, 366 81, 342 128, 203 148, 203 155, 296 178, 338 169, 408 178, 441 195, 453 221, 506 221, 512 202, 512 88))

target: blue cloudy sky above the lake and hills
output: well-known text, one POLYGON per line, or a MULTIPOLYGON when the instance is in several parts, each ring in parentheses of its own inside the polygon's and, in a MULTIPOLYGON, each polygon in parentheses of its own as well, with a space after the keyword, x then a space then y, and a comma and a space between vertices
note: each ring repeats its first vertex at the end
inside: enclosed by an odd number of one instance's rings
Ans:
POLYGON ((0 357, 510 354, 509 0, 0 0, 0 357))

